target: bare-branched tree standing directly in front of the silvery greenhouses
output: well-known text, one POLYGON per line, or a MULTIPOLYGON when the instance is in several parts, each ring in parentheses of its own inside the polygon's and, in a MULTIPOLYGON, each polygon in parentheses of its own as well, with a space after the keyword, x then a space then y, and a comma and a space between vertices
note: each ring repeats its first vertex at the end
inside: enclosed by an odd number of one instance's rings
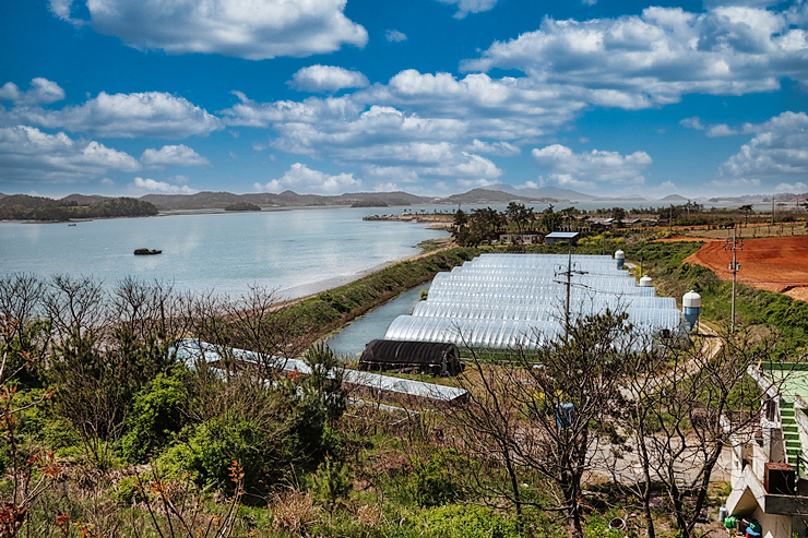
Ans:
POLYGON ((470 405, 452 418, 466 450, 501 462, 510 492, 500 493, 518 507, 525 502, 520 467, 552 483, 560 491, 555 510, 566 514, 575 538, 583 536, 582 481, 601 440, 615 431, 611 411, 625 358, 633 352, 632 331, 623 313, 581 315, 570 322, 566 338, 515 349, 498 364, 483 364, 472 352, 479 381, 475 385, 468 375, 461 381, 470 405))

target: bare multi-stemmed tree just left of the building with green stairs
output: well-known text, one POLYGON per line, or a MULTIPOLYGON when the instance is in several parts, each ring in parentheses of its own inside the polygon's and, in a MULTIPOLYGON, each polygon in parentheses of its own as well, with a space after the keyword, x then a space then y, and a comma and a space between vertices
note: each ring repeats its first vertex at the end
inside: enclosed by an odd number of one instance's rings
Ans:
MULTIPOLYGON (((747 376, 750 364, 770 360, 771 343, 736 330, 692 347, 665 347, 634 358, 626 376, 623 425, 639 471, 633 492, 641 500, 650 537, 655 536, 651 488, 662 486, 679 533, 692 536, 708 488, 730 439, 750 440, 760 423, 762 395, 747 376)), ((629 466, 630 466, 629 465, 629 466)), ((631 473, 618 477, 631 483, 631 473)), ((620 473, 617 473, 618 475, 620 473)))

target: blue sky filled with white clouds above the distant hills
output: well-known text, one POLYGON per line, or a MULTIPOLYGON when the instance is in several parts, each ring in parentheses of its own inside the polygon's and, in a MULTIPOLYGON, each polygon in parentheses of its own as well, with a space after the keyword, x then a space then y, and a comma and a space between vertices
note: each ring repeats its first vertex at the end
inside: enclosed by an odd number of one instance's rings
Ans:
POLYGON ((0 192, 808 191, 808 3, 27 0, 0 192))

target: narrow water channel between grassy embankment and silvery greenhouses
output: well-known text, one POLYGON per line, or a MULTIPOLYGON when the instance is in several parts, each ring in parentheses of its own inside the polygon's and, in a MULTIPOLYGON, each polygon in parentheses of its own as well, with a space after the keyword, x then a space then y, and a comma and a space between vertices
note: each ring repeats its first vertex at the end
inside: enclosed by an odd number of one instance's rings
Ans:
POLYGON ((411 289, 370 311, 364 318, 356 320, 340 333, 333 335, 325 344, 338 356, 347 356, 348 359, 358 358, 365 349, 365 344, 384 337, 384 333, 388 332, 388 327, 393 323, 393 320, 400 315, 413 313, 413 309, 420 300, 420 290, 429 289, 430 284, 426 283, 411 289))

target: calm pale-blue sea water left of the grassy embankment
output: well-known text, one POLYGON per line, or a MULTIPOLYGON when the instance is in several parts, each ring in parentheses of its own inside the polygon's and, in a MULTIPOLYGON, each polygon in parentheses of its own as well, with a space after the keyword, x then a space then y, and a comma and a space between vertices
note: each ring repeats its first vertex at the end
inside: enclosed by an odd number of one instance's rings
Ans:
POLYGON ((235 296, 258 284, 286 297, 301 296, 417 254, 418 242, 448 236, 414 223, 361 219, 383 211, 170 215, 76 226, 0 223, 0 275, 92 275, 110 285, 132 275, 173 282, 179 290, 235 296), (133 255, 139 248, 163 253, 133 255))

